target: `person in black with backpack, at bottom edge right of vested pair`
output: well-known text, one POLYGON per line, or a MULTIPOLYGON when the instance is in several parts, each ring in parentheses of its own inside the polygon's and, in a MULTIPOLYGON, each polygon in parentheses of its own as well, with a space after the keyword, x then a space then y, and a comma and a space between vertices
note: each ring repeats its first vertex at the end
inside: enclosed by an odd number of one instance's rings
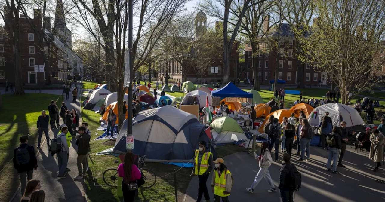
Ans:
POLYGON ((282 202, 293 202, 293 192, 298 191, 301 187, 302 177, 294 164, 290 162, 290 155, 283 154, 283 161, 280 169, 280 189, 282 202))

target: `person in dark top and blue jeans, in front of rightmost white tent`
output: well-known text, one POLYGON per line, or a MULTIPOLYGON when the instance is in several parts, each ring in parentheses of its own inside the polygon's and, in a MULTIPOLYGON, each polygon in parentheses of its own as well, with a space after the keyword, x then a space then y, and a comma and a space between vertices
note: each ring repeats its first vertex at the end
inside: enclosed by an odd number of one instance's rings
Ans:
POLYGON ((328 157, 328 163, 326 167, 326 171, 331 171, 330 164, 331 160, 333 159, 333 174, 340 174, 337 170, 337 160, 338 160, 338 153, 340 153, 341 148, 341 136, 340 136, 341 130, 338 127, 333 127, 333 132, 327 135, 326 137, 326 143, 329 147, 329 157, 328 157))

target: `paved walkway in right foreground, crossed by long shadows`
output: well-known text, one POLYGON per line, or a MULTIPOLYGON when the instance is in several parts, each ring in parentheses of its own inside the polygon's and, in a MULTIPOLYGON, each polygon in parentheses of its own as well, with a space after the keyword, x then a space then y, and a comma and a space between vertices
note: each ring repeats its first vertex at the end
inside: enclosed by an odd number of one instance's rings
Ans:
MULTIPOLYGON (((349 147, 349 146, 348 146, 349 147)), ((341 175, 327 172, 326 162, 328 151, 320 147, 310 147, 311 159, 308 162, 297 163, 295 165, 302 174, 302 187, 296 192, 294 201, 296 202, 354 202, 354 201, 385 201, 385 189, 383 184, 375 180, 385 180, 385 169, 373 172, 373 162, 368 159, 368 152, 353 152, 348 148, 343 164, 346 168, 337 167, 341 175)), ((294 151, 294 150, 293 150, 294 151)), ((294 155, 293 155, 294 156, 294 155)), ((293 157, 292 156, 292 157, 293 157)), ((293 157, 295 160, 297 156, 293 157)), ((274 155, 273 155, 274 159, 274 155)), ((282 159, 280 152, 279 159, 282 159)), ((224 163, 229 168, 234 177, 234 185, 229 197, 230 201, 264 201, 280 202, 279 190, 275 193, 268 193, 269 185, 266 180, 257 185, 253 194, 246 191, 251 185, 255 175, 258 173, 258 161, 245 152, 224 157, 224 163)), ((274 184, 278 187, 281 164, 273 162, 269 171, 274 184)), ((381 168, 381 167, 380 167, 381 168)), ((198 194, 198 177, 194 177, 186 191, 184 202, 195 202, 198 194)), ((208 180, 208 187, 211 183, 211 176, 208 180)), ((209 190, 210 192, 211 190, 209 190)), ((210 193, 211 200, 214 195, 210 193)))

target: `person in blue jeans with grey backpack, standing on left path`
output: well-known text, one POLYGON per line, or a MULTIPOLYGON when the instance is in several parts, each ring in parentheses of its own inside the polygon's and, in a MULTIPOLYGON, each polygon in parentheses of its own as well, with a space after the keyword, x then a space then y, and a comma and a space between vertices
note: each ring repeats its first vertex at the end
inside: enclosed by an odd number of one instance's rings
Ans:
POLYGON ((69 155, 69 147, 67 144, 66 134, 68 133, 68 127, 62 127, 62 133, 57 137, 60 137, 60 143, 62 150, 57 152, 57 165, 59 167, 59 174, 57 178, 65 178, 67 174, 67 164, 68 164, 68 155, 69 155))

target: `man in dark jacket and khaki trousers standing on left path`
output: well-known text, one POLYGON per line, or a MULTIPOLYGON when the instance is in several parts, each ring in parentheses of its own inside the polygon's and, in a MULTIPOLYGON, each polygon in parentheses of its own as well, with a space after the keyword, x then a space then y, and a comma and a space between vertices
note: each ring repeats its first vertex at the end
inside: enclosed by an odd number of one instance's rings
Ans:
POLYGON ((76 144, 77 144, 77 159, 76 165, 79 175, 74 177, 75 180, 82 179, 84 176, 87 176, 85 173, 87 171, 87 154, 89 149, 89 136, 85 133, 86 129, 83 126, 79 127, 79 135, 76 135, 76 144), (82 165, 83 164, 83 169, 82 165))

